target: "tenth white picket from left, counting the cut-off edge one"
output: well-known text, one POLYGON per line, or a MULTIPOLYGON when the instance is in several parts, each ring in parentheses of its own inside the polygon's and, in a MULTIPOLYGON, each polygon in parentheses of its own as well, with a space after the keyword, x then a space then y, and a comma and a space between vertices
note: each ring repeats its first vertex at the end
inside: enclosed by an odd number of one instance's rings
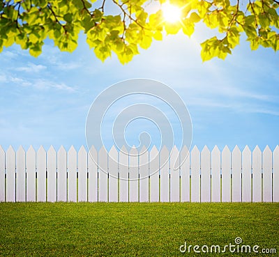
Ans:
POLYGON ((88 154, 88 201, 98 201, 98 153, 91 146, 88 154))

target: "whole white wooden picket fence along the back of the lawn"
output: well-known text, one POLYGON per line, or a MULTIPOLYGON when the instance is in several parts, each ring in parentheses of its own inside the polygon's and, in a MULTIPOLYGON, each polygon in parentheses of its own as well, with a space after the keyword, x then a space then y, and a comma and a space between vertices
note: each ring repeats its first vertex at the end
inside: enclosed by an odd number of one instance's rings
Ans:
POLYGON ((10 146, 5 153, 0 146, 0 201, 279 201, 278 146, 273 153, 268 146, 252 153, 248 146, 242 153, 238 146, 232 153, 227 146, 222 153, 217 146, 212 152, 207 146, 199 152, 195 146, 178 170, 173 164, 177 156, 185 159, 186 147, 179 153, 174 146, 163 166, 160 159, 170 153, 165 147, 160 153, 156 147, 140 155, 132 148, 130 153, 91 148, 96 164, 84 146, 78 153, 73 146, 68 153, 63 146, 57 153, 53 147, 36 152, 32 146, 27 153, 22 147, 15 153, 10 146))

